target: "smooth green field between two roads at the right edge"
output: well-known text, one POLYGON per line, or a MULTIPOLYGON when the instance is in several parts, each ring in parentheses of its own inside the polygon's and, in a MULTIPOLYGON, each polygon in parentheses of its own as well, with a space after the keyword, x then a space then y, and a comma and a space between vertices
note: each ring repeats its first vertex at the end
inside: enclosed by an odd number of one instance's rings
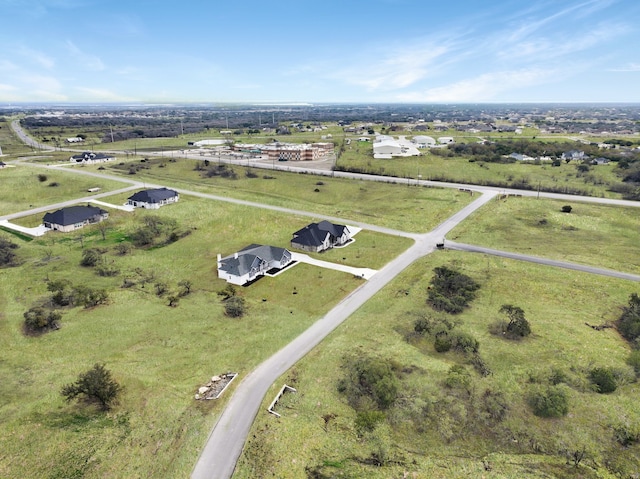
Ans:
POLYGON ((510 197, 476 211, 448 238, 637 274, 639 232, 640 208, 510 197))

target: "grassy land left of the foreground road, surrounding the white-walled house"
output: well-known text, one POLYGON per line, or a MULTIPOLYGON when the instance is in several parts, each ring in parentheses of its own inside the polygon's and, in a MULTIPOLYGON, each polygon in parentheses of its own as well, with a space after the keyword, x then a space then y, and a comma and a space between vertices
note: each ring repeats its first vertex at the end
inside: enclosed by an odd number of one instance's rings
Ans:
MULTIPOLYGON (((28 243, 0 231, 20 245, 23 260, 0 270, 0 477, 187 477, 234 386, 206 403, 194 400, 197 388, 230 371, 242 380, 362 284, 349 274, 297 264, 238 288, 246 316, 224 315, 217 292, 226 283, 217 279, 216 255, 251 243, 287 247, 291 232, 308 221, 184 196, 157 212, 114 213, 105 240, 95 226, 82 235, 52 233, 28 243), (173 218, 190 234, 117 255, 115 246, 146 215, 173 218), (79 266, 82 245, 100 248, 120 273, 100 277, 79 266), (58 279, 107 289, 109 304, 65 309, 60 330, 25 336, 23 313, 48 296, 48 281, 58 279), (182 280, 192 283, 192 293, 169 307, 156 284, 175 292, 182 280), (125 288, 125 282, 135 284, 125 288), (63 385, 96 362, 104 362, 124 387, 106 414, 65 403, 60 395, 63 385)), ((410 244, 362 231, 339 259, 378 268, 410 244)))

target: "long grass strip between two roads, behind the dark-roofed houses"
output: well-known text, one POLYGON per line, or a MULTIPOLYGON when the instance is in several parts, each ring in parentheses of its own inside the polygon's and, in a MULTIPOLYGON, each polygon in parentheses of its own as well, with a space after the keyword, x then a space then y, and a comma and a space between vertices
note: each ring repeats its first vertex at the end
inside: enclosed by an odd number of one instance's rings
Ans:
MULTIPOLYGON (((211 168, 216 165, 213 162, 211 168)), ((427 232, 467 205, 473 197, 455 189, 353 181, 308 174, 228 166, 237 178, 207 178, 196 160, 157 159, 109 165, 108 173, 168 187, 300 209, 401 231, 427 232), (129 175, 131 165, 142 166, 129 175), (249 173, 249 176, 247 175, 249 173)), ((96 167, 91 167, 96 168, 96 167)))

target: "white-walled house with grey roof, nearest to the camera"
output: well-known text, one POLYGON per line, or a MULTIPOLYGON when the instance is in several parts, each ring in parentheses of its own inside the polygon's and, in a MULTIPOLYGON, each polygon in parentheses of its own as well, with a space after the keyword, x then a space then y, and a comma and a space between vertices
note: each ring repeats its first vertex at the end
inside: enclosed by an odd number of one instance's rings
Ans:
POLYGON ((252 244, 225 258, 218 255, 218 278, 242 286, 292 261, 291 252, 285 248, 252 244))

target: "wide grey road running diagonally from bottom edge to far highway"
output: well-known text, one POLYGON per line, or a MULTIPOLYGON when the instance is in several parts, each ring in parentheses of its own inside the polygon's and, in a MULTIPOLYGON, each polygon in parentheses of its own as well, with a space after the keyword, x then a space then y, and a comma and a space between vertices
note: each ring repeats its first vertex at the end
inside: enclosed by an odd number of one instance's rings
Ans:
POLYGON ((236 462, 260 404, 271 385, 331 331, 414 261, 435 250, 436 243, 463 219, 485 205, 495 193, 484 194, 440 224, 431 233, 417 235, 414 245, 388 263, 369 281, 349 294, 322 319, 251 372, 236 388, 193 470, 193 479, 222 479, 233 474, 236 462))

